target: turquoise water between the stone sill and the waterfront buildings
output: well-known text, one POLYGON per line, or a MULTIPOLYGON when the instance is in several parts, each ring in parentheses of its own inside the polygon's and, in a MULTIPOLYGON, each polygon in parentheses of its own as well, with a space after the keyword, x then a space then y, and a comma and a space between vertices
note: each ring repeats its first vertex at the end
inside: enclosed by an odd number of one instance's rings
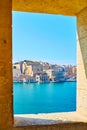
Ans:
POLYGON ((14 83, 14 114, 76 111, 76 82, 14 83))

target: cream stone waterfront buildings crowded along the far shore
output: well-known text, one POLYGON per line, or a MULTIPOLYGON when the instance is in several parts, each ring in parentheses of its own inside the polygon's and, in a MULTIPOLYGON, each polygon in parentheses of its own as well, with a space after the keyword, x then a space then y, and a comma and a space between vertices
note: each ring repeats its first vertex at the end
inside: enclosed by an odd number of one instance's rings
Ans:
POLYGON ((13 82, 49 83, 76 81, 76 66, 24 60, 13 64, 13 82))

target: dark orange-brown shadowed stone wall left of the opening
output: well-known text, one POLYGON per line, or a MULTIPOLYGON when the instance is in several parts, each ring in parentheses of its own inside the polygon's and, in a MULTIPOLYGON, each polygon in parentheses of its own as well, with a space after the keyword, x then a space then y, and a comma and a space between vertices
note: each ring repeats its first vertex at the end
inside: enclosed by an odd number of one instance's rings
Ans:
POLYGON ((12 3, 0 1, 0 130, 13 126, 12 3))

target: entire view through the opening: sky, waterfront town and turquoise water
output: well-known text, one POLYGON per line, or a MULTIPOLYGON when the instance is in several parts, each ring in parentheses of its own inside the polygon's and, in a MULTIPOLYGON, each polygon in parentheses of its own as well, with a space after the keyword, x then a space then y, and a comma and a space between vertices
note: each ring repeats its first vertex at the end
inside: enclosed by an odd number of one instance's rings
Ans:
POLYGON ((76 111, 76 18, 13 12, 14 114, 76 111))

